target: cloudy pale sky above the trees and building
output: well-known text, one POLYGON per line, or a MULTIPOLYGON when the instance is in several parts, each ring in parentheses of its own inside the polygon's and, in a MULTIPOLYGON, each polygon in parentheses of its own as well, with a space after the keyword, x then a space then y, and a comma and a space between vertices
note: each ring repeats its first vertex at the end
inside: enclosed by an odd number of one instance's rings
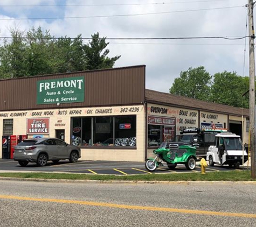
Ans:
MULTIPOLYGON (((82 34, 87 38, 99 32, 107 38, 237 38, 246 34, 246 4, 247 0, 2 0, 0 19, 8 20, 0 20, 0 37, 10 36, 10 28, 28 31, 41 26, 56 37, 82 34), (107 15, 115 17, 99 17, 107 15), (18 20, 85 16, 98 17, 18 20)), ((248 40, 245 45, 244 39, 109 42, 109 56, 121 55, 115 67, 147 66, 148 89, 168 93, 174 79, 189 67, 204 66, 211 75, 227 70, 248 76, 248 40)))

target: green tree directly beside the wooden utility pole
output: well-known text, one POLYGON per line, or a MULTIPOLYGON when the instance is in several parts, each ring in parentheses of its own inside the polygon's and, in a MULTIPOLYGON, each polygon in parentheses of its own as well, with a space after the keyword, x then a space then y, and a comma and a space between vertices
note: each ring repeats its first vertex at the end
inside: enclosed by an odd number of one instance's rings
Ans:
POLYGON ((222 72, 214 75, 211 87, 211 102, 248 108, 249 77, 242 77, 236 72, 222 72))

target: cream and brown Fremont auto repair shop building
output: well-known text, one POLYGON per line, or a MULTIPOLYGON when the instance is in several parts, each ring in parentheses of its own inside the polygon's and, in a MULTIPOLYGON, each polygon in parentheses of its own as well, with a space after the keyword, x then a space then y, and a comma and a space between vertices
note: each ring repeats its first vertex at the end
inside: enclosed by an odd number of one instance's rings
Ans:
POLYGON ((81 159, 116 161, 144 161, 191 127, 244 130, 248 141, 248 109, 148 90, 145 79, 141 65, 1 80, 0 138, 57 137, 81 159))

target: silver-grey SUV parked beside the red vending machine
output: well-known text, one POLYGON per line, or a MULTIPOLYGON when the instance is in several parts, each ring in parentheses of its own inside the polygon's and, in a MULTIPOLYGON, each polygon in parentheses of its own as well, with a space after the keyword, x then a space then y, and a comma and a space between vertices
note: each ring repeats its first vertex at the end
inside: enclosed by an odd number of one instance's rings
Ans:
POLYGON ((13 153, 13 160, 18 161, 20 166, 26 166, 29 162, 45 166, 49 160, 57 164, 61 159, 77 162, 79 158, 81 158, 79 147, 56 138, 25 139, 15 146, 13 153))

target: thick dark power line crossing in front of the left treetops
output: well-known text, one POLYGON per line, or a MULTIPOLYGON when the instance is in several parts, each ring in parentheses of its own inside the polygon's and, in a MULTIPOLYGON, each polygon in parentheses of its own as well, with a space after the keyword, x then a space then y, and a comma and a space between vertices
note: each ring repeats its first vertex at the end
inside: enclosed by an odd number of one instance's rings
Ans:
MULTIPOLYGON (((238 38, 229 38, 229 37, 221 37, 221 36, 211 36, 211 37, 162 37, 162 38, 99 38, 106 40, 175 40, 175 39, 227 39, 227 40, 240 40, 248 38, 248 36, 238 37, 238 38)), ((0 37, 0 39, 37 39, 36 37, 0 37)), ((77 39, 70 37, 41 37, 40 39, 77 39)), ((92 38, 82 38, 82 40, 90 40, 92 38)))

